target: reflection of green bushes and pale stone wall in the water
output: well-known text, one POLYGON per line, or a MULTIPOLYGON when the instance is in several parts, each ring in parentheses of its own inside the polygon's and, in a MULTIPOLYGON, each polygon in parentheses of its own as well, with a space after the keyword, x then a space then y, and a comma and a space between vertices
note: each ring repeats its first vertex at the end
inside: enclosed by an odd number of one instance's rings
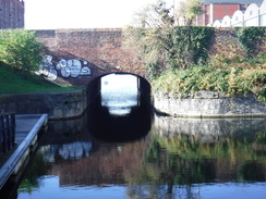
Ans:
MULTIPOLYGON (((266 181, 265 119, 157 117, 152 135, 138 175, 128 178, 132 198, 178 198, 180 190, 181 198, 201 198, 206 186, 218 190, 221 184, 240 187, 239 198, 242 186, 256 189, 254 183, 266 181)), ((259 186, 263 198, 265 184, 259 186)))

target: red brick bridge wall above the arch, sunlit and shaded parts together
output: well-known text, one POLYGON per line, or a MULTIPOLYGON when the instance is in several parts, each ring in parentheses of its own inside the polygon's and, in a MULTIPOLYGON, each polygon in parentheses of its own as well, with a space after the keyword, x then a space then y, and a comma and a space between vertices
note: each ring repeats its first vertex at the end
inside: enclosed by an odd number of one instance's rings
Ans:
POLYGON ((90 76, 64 78, 58 71, 60 84, 87 85, 94 77, 110 72, 128 72, 147 77, 140 57, 122 47, 121 28, 101 29, 57 29, 36 30, 37 40, 48 47, 47 54, 52 55, 52 63, 77 59, 88 62, 90 76))

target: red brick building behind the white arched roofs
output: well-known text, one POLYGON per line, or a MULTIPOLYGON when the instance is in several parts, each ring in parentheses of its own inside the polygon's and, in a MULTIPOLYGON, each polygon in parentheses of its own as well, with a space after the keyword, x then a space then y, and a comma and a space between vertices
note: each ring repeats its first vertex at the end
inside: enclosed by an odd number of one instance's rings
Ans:
POLYGON ((222 20, 223 16, 232 16, 235 11, 245 11, 251 3, 258 7, 263 0, 204 0, 203 14, 196 18, 196 25, 214 24, 216 20, 222 20))

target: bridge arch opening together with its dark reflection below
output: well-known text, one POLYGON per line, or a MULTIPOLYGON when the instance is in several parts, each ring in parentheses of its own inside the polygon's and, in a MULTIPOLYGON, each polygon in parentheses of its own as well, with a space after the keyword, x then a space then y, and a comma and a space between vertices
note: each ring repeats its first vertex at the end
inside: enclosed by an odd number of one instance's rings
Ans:
POLYGON ((101 75, 88 85, 90 133, 108 141, 129 141, 152 126, 150 85, 130 73, 101 75))

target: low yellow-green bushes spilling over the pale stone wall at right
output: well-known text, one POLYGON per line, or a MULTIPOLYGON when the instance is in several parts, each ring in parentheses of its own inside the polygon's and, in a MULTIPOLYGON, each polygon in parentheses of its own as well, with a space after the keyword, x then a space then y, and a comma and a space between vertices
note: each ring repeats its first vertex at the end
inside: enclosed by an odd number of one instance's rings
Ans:
POLYGON ((215 90, 226 96, 254 94, 266 101, 266 52, 239 63, 217 57, 206 65, 166 71, 153 80, 153 89, 179 98, 196 90, 215 90))

